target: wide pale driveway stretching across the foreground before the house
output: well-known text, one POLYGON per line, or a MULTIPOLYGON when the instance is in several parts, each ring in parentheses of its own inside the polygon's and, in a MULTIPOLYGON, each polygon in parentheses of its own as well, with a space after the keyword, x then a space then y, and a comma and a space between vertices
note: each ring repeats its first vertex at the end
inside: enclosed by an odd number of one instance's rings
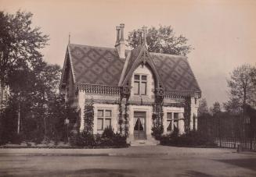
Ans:
POLYGON ((256 154, 186 147, 0 149, 2 176, 256 176, 256 154))

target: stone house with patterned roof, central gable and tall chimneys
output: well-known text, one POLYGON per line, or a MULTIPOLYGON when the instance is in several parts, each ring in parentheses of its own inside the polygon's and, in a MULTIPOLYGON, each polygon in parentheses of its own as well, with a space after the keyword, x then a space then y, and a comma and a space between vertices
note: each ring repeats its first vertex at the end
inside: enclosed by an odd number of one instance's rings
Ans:
POLYGON ((201 91, 188 59, 149 52, 142 31, 132 50, 125 49, 124 24, 117 27, 115 48, 68 44, 60 90, 77 112, 69 118, 73 132, 85 129, 85 105, 93 109, 94 134, 112 126, 132 143, 153 142, 153 129, 197 129, 201 91))

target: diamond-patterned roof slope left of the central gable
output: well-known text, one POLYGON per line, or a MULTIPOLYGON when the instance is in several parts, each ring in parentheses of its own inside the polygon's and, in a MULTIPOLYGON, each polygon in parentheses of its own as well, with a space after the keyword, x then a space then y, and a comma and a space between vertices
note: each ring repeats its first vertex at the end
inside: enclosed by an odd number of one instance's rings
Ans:
POLYGON ((68 46, 75 83, 117 86, 124 66, 114 48, 68 46))

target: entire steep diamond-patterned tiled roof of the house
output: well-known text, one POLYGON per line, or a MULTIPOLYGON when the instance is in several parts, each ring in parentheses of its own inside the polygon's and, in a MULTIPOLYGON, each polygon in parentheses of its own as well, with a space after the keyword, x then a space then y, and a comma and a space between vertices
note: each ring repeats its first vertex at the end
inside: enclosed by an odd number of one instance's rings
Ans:
POLYGON ((142 52, 149 55, 147 62, 150 63, 153 74, 159 77, 164 89, 200 92, 200 87, 186 57, 148 52, 145 46, 133 49, 131 55, 127 57, 127 67, 124 67, 125 59, 119 58, 115 48, 69 44, 61 85, 67 70, 65 68, 69 65, 74 83, 118 86, 121 74, 124 73, 124 80, 127 81, 132 69, 138 65, 137 62, 143 61, 139 58, 142 57, 142 52))

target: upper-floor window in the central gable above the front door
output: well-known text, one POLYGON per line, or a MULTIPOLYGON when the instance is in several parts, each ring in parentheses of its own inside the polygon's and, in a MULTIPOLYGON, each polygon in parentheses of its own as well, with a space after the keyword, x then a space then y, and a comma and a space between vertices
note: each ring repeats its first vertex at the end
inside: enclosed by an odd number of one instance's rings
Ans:
POLYGON ((134 94, 146 95, 146 75, 134 75, 134 94))

